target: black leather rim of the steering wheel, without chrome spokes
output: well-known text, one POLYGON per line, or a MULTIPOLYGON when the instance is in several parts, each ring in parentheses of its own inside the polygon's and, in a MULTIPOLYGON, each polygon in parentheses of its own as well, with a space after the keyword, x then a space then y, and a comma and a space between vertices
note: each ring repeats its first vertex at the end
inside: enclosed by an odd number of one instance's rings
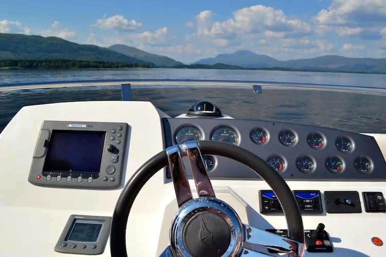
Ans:
MULTIPOLYGON (((296 199, 286 181, 269 164, 252 152, 230 143, 218 141, 197 141, 202 155, 218 155, 236 160, 256 172, 272 188, 286 217, 288 237, 304 243, 302 215, 296 199)), ((166 150, 145 162, 129 179, 122 190, 114 209, 110 251, 112 257, 126 257, 126 226, 131 207, 145 183, 159 170, 168 166, 166 150)))

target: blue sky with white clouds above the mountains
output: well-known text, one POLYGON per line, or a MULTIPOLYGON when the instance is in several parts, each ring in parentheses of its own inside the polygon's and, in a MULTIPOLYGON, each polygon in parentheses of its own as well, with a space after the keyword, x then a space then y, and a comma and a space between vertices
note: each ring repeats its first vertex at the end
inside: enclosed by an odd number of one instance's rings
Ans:
POLYGON ((185 63, 237 50, 386 58, 386 0, 0 0, 0 32, 125 44, 185 63))

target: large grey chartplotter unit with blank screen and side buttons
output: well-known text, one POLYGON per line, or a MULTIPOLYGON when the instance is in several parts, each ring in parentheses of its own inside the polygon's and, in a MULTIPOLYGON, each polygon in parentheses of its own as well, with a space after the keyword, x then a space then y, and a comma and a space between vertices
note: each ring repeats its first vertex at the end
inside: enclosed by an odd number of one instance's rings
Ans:
POLYGON ((127 123, 43 121, 28 181, 54 188, 119 187, 128 129, 127 123), (82 171, 68 170, 73 166, 82 171))

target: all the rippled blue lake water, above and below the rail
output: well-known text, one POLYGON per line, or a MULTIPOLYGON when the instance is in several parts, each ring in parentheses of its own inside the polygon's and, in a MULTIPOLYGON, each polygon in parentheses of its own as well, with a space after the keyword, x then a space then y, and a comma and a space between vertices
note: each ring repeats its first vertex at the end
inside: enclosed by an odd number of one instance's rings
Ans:
MULTIPOLYGON (((386 88, 386 75, 262 70, 74 69, 0 70, 8 83, 102 79, 206 79, 316 83, 386 88)), ((33 89, 0 92, 0 131, 25 105, 92 100, 120 100, 120 87, 33 89)), ((386 98, 315 90, 230 88, 133 89, 133 100, 151 101, 170 116, 186 113, 199 100, 214 102, 234 118, 326 126, 358 133, 386 133, 386 98)))

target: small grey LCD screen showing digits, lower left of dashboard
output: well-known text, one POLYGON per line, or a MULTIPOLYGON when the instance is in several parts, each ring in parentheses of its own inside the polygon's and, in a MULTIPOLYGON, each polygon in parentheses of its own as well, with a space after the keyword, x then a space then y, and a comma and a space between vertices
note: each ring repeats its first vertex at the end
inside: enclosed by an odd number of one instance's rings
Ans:
POLYGON ((97 243, 104 221, 75 219, 67 235, 67 241, 97 243))

